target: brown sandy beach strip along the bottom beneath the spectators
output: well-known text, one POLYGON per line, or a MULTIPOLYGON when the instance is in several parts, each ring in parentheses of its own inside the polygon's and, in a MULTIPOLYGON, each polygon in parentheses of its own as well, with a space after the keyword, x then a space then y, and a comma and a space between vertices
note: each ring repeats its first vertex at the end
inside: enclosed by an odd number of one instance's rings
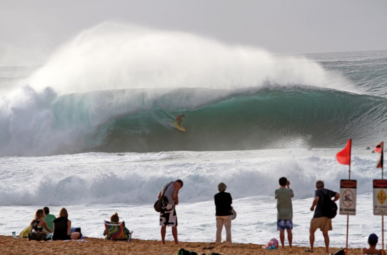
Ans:
MULTIPOLYGON (((166 245, 161 245, 160 241, 133 239, 132 242, 105 241, 98 238, 87 238, 87 242, 77 241, 29 241, 28 239, 14 239, 12 236, 0 236, 0 251, 2 254, 177 254, 180 248, 195 251, 198 254, 211 254, 217 252, 222 255, 247 255, 247 254, 307 254, 304 250, 307 247, 293 248, 279 247, 278 250, 263 249, 258 244, 242 243, 203 243, 203 242, 180 242, 174 245, 172 241, 167 241, 166 245), (208 247, 214 247, 208 249, 208 247), (207 248, 207 249, 204 249, 207 248)), ((340 248, 330 248, 330 252, 336 252, 340 248)), ((315 254, 326 254, 324 247, 315 247, 315 254)), ((350 248, 348 254, 362 254, 360 248, 350 248)))

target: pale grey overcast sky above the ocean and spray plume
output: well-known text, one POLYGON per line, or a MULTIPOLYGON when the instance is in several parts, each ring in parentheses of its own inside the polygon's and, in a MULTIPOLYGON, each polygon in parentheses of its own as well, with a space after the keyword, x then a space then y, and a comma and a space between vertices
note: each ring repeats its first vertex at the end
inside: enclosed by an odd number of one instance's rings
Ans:
POLYGON ((0 66, 43 64, 105 21, 274 54, 387 49, 385 0, 0 0, 0 66))

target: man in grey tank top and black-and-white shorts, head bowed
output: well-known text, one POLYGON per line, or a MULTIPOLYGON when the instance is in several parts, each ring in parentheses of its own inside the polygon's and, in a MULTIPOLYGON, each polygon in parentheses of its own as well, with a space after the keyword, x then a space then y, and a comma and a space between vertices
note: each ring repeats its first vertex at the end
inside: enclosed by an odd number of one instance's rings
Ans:
POLYGON ((168 205, 163 206, 160 211, 160 226, 161 226, 161 242, 165 244, 165 234, 167 226, 172 227, 172 236, 175 240, 175 244, 179 244, 177 239, 177 215, 175 206, 178 205, 178 192, 183 187, 182 180, 176 180, 164 185, 159 193, 159 198, 164 193, 164 196, 168 198, 168 205))

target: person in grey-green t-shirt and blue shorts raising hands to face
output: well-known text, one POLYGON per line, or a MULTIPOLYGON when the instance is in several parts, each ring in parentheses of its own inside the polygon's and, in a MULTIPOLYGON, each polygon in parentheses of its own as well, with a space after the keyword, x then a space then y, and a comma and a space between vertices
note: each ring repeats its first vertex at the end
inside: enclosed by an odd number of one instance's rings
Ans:
POLYGON ((285 230, 288 232, 289 247, 292 248, 293 240, 293 190, 289 188, 290 182, 286 177, 279 180, 279 189, 274 191, 274 197, 277 199, 277 230, 279 230, 279 240, 282 248, 285 248, 285 230), (288 187, 288 188, 287 188, 288 187))

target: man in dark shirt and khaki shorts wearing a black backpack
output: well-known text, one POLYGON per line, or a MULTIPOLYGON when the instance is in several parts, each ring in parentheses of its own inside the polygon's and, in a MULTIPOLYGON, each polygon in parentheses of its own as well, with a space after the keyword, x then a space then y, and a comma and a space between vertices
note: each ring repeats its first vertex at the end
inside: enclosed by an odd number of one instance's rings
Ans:
POLYGON ((329 219, 324 215, 323 205, 325 199, 331 199, 334 197, 333 201, 337 201, 340 198, 340 194, 328 189, 324 188, 323 181, 317 181, 315 190, 315 199, 313 200, 313 204, 311 207, 311 211, 315 210, 315 214, 313 215, 313 219, 311 220, 311 228, 309 228, 309 242, 311 243, 311 247, 306 249, 305 251, 313 252, 313 244, 315 242, 315 232, 317 228, 323 233, 324 242, 325 242, 325 252, 329 253, 329 236, 328 231, 332 230, 332 219, 329 219), (326 198, 325 198, 326 197, 326 198))

